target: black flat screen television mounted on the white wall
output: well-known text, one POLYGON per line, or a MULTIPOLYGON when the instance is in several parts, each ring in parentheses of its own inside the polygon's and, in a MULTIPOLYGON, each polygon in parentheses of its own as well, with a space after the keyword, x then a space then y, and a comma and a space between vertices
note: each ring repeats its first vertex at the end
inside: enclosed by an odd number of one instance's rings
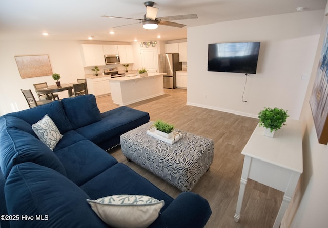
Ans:
POLYGON ((209 44, 208 71, 256 74, 260 42, 209 44))

